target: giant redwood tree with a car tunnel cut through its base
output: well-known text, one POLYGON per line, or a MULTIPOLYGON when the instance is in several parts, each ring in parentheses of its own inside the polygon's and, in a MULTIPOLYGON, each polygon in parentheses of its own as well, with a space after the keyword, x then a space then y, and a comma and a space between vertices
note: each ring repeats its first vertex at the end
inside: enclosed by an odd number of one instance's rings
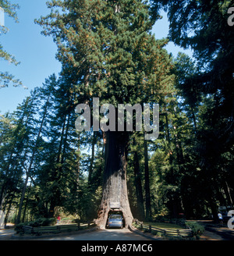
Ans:
MULTIPOLYGON (((53 0, 51 13, 37 20, 58 45, 57 58, 76 80, 76 103, 100 106, 161 103, 172 93, 166 40, 151 34, 149 6, 139 0, 53 0)), ((74 124, 75 125, 75 124, 74 124)), ((107 123, 108 125, 108 123, 107 123)), ((103 132, 105 172, 97 224, 105 228, 112 203, 126 226, 133 221, 126 186, 129 131, 103 132)))

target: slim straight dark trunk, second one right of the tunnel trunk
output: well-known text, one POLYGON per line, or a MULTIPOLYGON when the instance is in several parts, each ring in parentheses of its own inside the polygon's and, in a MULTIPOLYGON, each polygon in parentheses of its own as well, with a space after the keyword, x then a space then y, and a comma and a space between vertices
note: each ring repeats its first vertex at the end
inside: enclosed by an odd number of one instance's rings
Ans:
POLYGON ((150 173, 148 164, 148 148, 147 140, 144 140, 144 179, 145 179, 145 210, 146 219, 151 218, 151 189, 150 189, 150 173))

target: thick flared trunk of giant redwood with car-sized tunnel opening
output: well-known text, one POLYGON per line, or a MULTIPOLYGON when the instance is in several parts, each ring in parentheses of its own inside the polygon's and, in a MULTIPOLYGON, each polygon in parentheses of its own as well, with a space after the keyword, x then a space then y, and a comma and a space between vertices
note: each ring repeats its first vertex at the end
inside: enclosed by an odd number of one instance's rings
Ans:
POLYGON ((126 146, 128 140, 128 133, 112 131, 106 133, 104 185, 101 206, 96 220, 96 224, 101 229, 105 229, 110 211, 122 212, 126 227, 129 227, 133 222, 126 186, 126 146), (119 206, 111 208, 112 203, 119 204, 119 206))

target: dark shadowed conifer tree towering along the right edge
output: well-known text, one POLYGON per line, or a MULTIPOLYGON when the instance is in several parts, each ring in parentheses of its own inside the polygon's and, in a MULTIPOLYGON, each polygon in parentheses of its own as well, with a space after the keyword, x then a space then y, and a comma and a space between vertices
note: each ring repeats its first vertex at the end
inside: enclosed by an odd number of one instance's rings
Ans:
MULTIPOLYGON (((217 218, 214 198, 224 204, 218 187, 227 187, 225 180, 232 180, 228 171, 232 169, 229 156, 233 156, 234 141, 234 33, 228 23, 232 6, 233 1, 229 0, 151 0, 152 17, 155 19, 161 8, 168 11, 169 39, 183 48, 191 48, 197 61, 195 72, 190 73, 192 63, 180 56, 182 62, 177 71, 183 72, 177 74, 183 79, 179 89, 196 128, 193 155, 200 158, 197 163, 200 181, 210 184, 202 197, 209 202, 214 218, 217 218)), ((198 190, 195 182, 191 187, 198 190)))

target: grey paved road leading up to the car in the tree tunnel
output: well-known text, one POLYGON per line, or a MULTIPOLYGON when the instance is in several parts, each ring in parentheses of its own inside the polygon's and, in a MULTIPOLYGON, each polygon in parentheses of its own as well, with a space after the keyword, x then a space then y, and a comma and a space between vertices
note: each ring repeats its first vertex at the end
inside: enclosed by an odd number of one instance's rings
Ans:
POLYGON ((66 234, 64 236, 52 236, 37 238, 35 240, 149 240, 144 236, 140 236, 131 232, 129 229, 105 229, 96 230, 87 233, 66 234))

